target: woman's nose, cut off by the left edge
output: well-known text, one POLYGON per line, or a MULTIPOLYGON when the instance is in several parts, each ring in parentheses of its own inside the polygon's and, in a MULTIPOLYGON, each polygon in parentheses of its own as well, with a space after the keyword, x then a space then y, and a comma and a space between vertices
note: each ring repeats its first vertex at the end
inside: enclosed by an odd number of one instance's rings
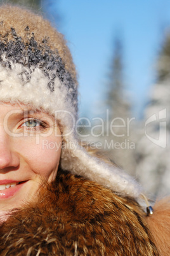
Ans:
POLYGON ((8 135, 0 135, 0 170, 6 167, 17 167, 19 165, 19 157, 13 148, 13 143, 8 135))

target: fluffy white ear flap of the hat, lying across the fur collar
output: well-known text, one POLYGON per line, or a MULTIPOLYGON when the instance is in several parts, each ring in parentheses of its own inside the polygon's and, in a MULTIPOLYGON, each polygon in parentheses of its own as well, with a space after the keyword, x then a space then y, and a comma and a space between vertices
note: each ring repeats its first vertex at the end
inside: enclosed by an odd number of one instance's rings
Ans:
POLYGON ((79 174, 96 181, 104 187, 112 189, 122 196, 138 198, 141 193, 141 186, 122 169, 108 164, 95 155, 90 155, 86 148, 77 145, 72 138, 73 148, 65 149, 62 152, 62 167, 69 169, 73 174, 79 174))

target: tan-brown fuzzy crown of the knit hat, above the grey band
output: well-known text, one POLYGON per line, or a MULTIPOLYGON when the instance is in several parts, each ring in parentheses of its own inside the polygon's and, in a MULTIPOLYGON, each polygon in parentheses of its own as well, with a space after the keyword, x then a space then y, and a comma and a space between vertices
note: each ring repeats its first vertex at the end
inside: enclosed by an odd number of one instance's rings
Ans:
MULTIPOLYGON (((16 34, 22 37, 24 43, 27 43, 34 33, 34 37, 39 45, 42 45, 42 39, 50 38, 48 45, 51 50, 58 50, 60 57, 65 63, 65 68, 76 80, 75 66, 72 62, 72 56, 67 48, 63 35, 51 27, 47 20, 41 15, 36 15, 28 10, 16 6, 0 6, 0 33, 4 37, 7 32, 11 33, 11 27, 15 28, 16 34), (25 28, 29 26, 29 32, 25 28)), ((10 36, 8 36, 10 38, 10 36)), ((12 38, 11 38, 12 39, 12 38)))

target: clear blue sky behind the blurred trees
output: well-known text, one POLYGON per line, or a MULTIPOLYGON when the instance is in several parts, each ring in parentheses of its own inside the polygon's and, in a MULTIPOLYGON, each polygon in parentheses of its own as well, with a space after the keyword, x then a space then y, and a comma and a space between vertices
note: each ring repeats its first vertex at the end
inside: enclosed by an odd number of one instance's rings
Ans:
POLYGON ((43 0, 48 18, 65 34, 79 75, 80 115, 101 111, 113 41, 121 34, 126 85, 139 115, 154 83, 155 60, 170 28, 169 0, 43 0), (61 17, 55 23, 56 13, 61 17))

